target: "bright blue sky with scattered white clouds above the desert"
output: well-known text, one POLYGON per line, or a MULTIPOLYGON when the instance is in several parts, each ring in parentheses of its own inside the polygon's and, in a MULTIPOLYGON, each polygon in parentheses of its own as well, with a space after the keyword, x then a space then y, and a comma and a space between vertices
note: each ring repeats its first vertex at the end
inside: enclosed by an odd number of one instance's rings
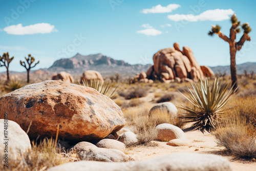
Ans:
POLYGON ((50 67, 56 59, 77 52, 145 64, 153 63, 158 50, 179 42, 180 47, 194 51, 200 65, 229 65, 227 42, 207 32, 219 24, 229 35, 228 18, 234 11, 241 23, 252 28, 251 41, 237 54, 237 63, 255 62, 255 6, 255 1, 223 0, 1 1, 0 55, 14 56, 12 71, 25 71, 19 60, 28 54, 40 60, 35 69, 50 67))

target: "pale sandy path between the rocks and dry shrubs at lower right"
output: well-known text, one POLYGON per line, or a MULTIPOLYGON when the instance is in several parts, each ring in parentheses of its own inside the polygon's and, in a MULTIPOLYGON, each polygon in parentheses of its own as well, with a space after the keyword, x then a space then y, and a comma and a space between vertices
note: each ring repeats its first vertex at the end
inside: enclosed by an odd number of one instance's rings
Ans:
POLYGON ((218 154, 230 161, 232 170, 256 170, 256 162, 233 160, 233 157, 224 153, 223 149, 225 148, 219 146, 211 134, 203 134, 200 131, 189 131, 185 134, 187 139, 191 141, 191 146, 170 146, 166 142, 153 141, 157 145, 129 147, 126 153, 135 160, 151 159, 175 152, 218 154), (198 150, 195 151, 196 149, 198 150))

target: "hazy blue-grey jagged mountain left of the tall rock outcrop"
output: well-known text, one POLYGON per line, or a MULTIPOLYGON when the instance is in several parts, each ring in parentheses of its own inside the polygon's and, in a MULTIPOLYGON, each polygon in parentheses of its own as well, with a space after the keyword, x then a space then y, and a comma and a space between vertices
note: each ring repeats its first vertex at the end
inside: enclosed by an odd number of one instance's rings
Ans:
POLYGON ((77 53, 71 58, 62 58, 56 60, 53 65, 47 69, 50 72, 66 71, 71 74, 81 74, 86 70, 96 70, 102 75, 113 75, 119 73, 122 75, 135 75, 142 71, 147 71, 148 65, 131 65, 123 60, 115 60, 111 57, 99 54, 81 55, 77 53))

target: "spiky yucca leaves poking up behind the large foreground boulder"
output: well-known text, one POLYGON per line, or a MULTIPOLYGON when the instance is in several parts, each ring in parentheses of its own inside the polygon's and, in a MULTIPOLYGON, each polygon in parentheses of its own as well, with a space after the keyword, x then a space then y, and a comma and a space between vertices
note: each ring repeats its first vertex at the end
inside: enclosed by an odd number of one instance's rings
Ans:
POLYGON ((99 79, 82 80, 83 86, 91 87, 103 95, 113 98, 117 94, 118 86, 114 86, 111 82, 102 83, 99 79))

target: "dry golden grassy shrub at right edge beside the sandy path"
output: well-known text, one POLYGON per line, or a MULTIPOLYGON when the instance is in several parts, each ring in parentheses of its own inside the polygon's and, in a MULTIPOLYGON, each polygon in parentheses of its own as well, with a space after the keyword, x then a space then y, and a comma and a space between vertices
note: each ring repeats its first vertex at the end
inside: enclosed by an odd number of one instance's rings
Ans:
POLYGON ((214 132, 219 145, 238 158, 256 157, 256 129, 238 112, 228 115, 214 132))

